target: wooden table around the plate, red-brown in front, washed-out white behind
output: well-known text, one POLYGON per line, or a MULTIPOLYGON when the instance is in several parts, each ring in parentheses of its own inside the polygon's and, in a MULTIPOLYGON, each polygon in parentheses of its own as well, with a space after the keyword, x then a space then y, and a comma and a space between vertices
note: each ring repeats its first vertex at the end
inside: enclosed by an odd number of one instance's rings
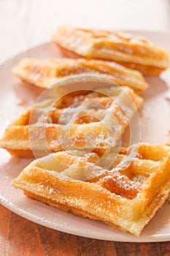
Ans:
MULTIPOLYGON (((170 31, 169 0, 0 0, 0 13, 0 63, 48 41, 61 24, 170 31)), ((170 242, 82 238, 37 225, 1 205, 0 212, 0 256, 170 255, 170 242)))

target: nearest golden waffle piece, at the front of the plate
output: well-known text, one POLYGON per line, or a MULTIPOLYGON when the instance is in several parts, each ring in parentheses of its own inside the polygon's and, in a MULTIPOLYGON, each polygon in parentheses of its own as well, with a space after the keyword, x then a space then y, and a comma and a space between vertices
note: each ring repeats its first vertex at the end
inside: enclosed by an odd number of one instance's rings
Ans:
POLYGON ((12 184, 28 197, 139 236, 168 197, 170 148, 142 143, 130 165, 125 157, 114 162, 114 153, 98 160, 96 153, 61 151, 31 162, 12 184))

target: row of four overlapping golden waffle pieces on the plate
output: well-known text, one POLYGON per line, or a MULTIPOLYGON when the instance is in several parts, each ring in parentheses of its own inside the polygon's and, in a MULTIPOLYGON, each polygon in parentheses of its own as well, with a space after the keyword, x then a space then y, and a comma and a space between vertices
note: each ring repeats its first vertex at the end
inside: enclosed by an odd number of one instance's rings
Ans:
POLYGON ((158 75, 169 67, 168 53, 117 31, 65 26, 53 41, 66 56, 81 59, 24 59, 15 75, 47 90, 58 82, 62 88, 62 79, 72 75, 84 75, 83 83, 9 124, 1 147, 18 157, 43 156, 12 184, 28 197, 139 236, 169 197, 170 147, 123 148, 121 137, 142 104, 138 94, 147 89, 142 73, 158 75), (109 86, 83 87, 89 75, 109 86))

